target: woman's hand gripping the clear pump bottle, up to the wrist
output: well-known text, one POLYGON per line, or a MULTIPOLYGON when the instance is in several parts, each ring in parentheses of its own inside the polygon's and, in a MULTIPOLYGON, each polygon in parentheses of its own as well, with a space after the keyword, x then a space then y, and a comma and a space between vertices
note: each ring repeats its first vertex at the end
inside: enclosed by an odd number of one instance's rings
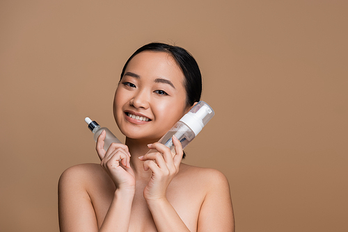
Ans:
POLYGON ((152 171, 151 179, 143 192, 145 200, 165 199, 168 185, 179 172, 183 155, 182 145, 174 135, 172 140, 175 154, 172 154, 171 150, 164 144, 155 142, 148 144, 148 147, 157 150, 157 152, 139 157, 140 160, 144 161, 144 170, 150 169, 152 171))

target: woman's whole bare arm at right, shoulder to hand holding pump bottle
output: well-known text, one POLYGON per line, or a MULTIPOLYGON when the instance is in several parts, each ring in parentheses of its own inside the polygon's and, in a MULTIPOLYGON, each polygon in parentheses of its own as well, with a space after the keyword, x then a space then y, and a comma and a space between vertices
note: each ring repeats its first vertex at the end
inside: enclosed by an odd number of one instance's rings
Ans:
MULTIPOLYGON (((141 158, 145 170, 151 169, 152 176, 144 189, 144 197, 152 213, 158 231, 189 231, 171 203, 166 198, 166 189, 177 174, 182 160, 182 147, 173 137, 175 156, 163 144, 150 144, 157 153, 141 158)), ((197 229, 201 231, 234 231, 234 218, 230 187, 226 176, 214 169, 200 172, 205 198, 200 207, 197 229)))

